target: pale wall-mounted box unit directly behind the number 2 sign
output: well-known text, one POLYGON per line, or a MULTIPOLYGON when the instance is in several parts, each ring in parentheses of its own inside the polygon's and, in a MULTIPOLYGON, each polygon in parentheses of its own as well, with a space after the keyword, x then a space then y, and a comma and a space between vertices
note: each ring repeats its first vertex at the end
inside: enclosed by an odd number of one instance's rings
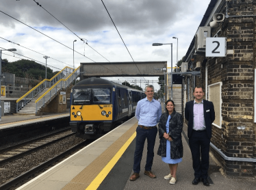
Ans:
POLYGON ((206 38, 211 37, 211 27, 199 27, 195 37, 196 53, 205 53, 206 38))

